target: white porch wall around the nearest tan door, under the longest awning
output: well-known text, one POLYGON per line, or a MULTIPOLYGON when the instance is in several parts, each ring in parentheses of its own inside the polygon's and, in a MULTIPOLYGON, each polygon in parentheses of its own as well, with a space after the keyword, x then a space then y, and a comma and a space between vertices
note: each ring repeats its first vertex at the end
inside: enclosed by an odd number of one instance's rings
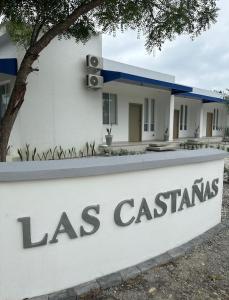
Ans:
MULTIPOLYGON (((136 85, 110 82, 105 84, 103 92, 117 94, 118 124, 112 126, 113 141, 129 140, 129 104, 142 104, 142 140, 163 139, 169 126, 170 91, 141 87, 136 85), (155 132, 144 131, 144 99, 155 99, 155 132)), ((107 125, 103 126, 103 136, 107 125)))

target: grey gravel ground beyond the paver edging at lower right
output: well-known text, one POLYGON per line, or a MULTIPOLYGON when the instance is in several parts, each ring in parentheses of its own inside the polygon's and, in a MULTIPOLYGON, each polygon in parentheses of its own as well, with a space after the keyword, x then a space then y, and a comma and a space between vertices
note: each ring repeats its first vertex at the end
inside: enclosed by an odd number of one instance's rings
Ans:
POLYGON ((82 300, 229 300, 229 184, 224 186, 219 234, 175 262, 82 300))

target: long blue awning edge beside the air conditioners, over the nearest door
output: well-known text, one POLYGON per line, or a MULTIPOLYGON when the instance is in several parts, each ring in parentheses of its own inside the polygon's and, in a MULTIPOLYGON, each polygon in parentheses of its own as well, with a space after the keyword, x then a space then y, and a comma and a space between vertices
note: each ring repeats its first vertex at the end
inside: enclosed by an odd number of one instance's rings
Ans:
POLYGON ((110 81, 119 81, 123 83, 132 83, 141 86, 159 87, 162 89, 171 90, 173 95, 180 93, 189 93, 193 90, 189 86, 116 71, 102 70, 101 76, 103 76, 105 83, 110 81))

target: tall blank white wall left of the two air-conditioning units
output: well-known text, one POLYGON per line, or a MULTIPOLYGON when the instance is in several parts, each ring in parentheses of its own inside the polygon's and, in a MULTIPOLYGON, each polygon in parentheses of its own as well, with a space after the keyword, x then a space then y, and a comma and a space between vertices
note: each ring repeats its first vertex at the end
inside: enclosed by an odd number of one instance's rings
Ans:
POLYGON ((80 150, 87 141, 101 143, 102 91, 86 88, 88 53, 101 56, 100 36, 86 45, 56 39, 41 53, 35 62, 39 72, 29 76, 25 102, 11 134, 15 151, 26 143, 39 150, 56 145, 80 150))

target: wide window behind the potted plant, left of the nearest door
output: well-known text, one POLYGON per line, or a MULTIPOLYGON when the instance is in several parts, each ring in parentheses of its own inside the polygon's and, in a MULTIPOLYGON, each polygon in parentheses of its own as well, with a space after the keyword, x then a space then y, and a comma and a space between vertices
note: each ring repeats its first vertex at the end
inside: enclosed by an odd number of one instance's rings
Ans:
POLYGON ((103 94, 103 124, 117 124, 116 94, 103 94))

